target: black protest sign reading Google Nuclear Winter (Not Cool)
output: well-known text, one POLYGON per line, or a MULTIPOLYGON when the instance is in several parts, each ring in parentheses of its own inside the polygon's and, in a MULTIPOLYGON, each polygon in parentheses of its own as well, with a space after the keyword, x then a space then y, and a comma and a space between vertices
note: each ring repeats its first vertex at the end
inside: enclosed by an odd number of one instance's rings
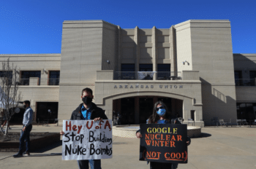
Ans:
POLYGON ((140 125, 140 160, 187 163, 187 125, 140 125))

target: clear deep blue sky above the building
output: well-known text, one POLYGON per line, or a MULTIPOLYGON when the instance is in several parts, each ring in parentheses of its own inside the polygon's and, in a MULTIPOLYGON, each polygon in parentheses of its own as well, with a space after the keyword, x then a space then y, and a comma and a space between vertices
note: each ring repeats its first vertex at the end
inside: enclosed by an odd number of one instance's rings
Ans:
POLYGON ((121 28, 230 20, 233 53, 256 53, 256 0, 1 0, 0 54, 61 53, 64 20, 105 20, 121 28))

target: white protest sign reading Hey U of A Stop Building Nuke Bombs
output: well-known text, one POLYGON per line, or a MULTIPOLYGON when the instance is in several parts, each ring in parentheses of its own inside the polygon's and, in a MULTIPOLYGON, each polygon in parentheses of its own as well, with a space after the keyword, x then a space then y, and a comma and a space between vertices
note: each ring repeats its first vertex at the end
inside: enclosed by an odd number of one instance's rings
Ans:
POLYGON ((62 160, 112 158, 112 121, 63 120, 62 160))

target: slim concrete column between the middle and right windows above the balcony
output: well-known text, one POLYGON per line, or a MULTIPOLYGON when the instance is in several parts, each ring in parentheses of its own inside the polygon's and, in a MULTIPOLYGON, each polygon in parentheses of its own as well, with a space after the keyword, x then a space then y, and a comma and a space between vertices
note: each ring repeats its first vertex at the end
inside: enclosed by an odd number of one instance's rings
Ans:
MULTIPOLYGON (((154 26, 152 28, 152 61, 153 61, 153 71, 157 71, 157 28, 154 26)), ((157 79, 157 74, 154 74, 153 80, 157 79)))

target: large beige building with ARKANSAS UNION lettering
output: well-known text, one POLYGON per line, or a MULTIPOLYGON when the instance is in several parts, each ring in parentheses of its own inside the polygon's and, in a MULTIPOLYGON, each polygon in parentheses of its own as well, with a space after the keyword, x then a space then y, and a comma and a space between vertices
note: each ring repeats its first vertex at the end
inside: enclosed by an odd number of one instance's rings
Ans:
POLYGON ((69 20, 61 54, 0 55, 20 69, 34 119, 69 119, 81 90, 122 124, 146 122, 156 101, 188 124, 254 120, 256 54, 233 54, 229 20, 187 20, 167 29, 123 29, 103 20, 69 20), (54 113, 53 113, 54 109, 54 113))

